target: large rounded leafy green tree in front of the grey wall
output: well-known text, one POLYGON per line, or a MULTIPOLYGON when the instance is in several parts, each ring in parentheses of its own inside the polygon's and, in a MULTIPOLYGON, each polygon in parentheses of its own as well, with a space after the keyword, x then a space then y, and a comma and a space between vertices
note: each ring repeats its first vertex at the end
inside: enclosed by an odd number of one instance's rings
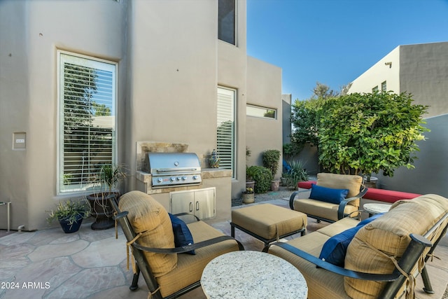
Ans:
POLYGON ((330 172, 365 174, 413 168, 423 140, 423 113, 428 106, 412 104, 412 95, 392 92, 353 93, 323 106, 319 162, 330 172))

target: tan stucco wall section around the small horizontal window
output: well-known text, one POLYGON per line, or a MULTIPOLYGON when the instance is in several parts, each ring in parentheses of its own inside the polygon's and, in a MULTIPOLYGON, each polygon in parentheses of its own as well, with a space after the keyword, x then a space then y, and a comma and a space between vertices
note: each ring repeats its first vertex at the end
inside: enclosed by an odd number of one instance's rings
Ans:
MULTIPOLYGON (((247 57, 248 76, 247 104, 276 109, 277 118, 246 116, 246 146, 251 156, 246 159, 248 166, 262 165, 262 152, 276 149, 283 152, 281 68, 247 57)), ((281 160, 275 179, 281 176, 281 160)), ((246 178, 244 178, 246 179, 246 178)))

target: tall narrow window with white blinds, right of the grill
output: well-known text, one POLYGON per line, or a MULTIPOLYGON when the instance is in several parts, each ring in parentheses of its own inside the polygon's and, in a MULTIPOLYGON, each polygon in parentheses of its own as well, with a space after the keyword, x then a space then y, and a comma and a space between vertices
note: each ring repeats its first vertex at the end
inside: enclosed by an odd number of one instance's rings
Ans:
POLYGON ((218 88, 216 151, 219 167, 232 169, 235 178, 235 90, 218 88))

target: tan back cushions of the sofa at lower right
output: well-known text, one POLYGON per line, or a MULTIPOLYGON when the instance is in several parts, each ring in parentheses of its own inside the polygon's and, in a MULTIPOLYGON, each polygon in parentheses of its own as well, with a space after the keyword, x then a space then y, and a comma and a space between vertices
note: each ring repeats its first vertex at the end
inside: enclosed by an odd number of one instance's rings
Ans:
MULTIPOLYGON (((422 195, 414 200, 395 202, 391 209, 363 226, 350 242, 345 258, 349 270, 387 274, 395 265, 389 257, 400 259, 411 233, 424 235, 448 211, 448 200, 439 195, 422 195)), ((378 298, 384 283, 344 278, 351 298, 378 298)))

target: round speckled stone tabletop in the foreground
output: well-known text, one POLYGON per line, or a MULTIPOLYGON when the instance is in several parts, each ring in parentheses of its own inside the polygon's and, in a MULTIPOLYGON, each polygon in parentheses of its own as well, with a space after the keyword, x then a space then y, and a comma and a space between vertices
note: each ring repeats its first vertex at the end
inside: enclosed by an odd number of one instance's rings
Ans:
POLYGON ((233 251, 211 260, 201 277, 207 298, 307 298, 302 273, 286 260, 258 251, 233 251))

